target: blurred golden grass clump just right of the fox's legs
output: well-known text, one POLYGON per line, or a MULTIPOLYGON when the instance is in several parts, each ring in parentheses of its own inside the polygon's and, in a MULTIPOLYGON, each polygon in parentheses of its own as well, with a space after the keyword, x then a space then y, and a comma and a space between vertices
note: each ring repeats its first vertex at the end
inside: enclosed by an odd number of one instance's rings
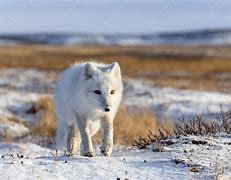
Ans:
POLYGON ((150 110, 129 111, 125 106, 121 106, 114 121, 114 142, 131 145, 140 136, 146 137, 149 131, 158 134, 162 126, 172 132, 171 124, 167 121, 161 124, 150 110))

